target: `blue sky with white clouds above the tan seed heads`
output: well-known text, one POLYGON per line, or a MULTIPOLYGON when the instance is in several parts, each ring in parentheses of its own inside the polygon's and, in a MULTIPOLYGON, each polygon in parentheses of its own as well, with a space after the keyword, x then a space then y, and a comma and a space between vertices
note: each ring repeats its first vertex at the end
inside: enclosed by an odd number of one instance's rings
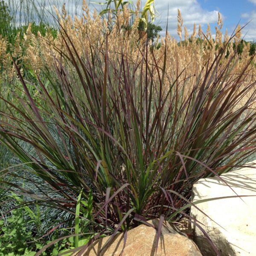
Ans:
MULTIPOLYGON (((5 0, 9 2, 10 0, 5 0)), ((15 0, 12 0, 15 1, 15 0)), ((21 3, 21 0, 16 0, 21 3)), ((68 10, 81 10, 82 0, 25 0, 35 1, 38 6, 44 5, 47 9, 58 3, 60 7, 63 2, 66 3, 68 10)), ((92 2, 105 2, 107 0, 91 0, 92 2)), ((87 1, 87 3, 89 0, 87 1)), ((136 4, 137 0, 133 0, 136 4)), ((141 0, 143 8, 146 0, 141 0)), ((18 6, 19 6, 18 4, 18 6)), ((89 4, 90 9, 93 10, 95 6, 102 9, 102 5, 89 4)), ((16 7, 16 9, 20 9, 16 7)), ((250 21, 247 26, 242 30, 244 40, 256 41, 256 0, 155 0, 155 9, 158 14, 154 23, 163 28, 161 35, 165 34, 167 18, 168 18, 168 31, 169 34, 175 38, 177 35, 177 9, 180 9, 183 17, 183 25, 188 29, 189 35, 192 34, 194 23, 197 26, 201 24, 202 30, 205 32, 207 23, 211 26, 212 35, 215 35, 215 26, 217 26, 218 12, 221 13, 222 20, 224 21, 222 32, 225 34, 226 28, 228 34, 231 35, 237 24, 240 23, 244 26, 250 21), (169 16, 168 16, 169 11, 169 16)), ((214 37, 213 37, 214 38, 214 37)))

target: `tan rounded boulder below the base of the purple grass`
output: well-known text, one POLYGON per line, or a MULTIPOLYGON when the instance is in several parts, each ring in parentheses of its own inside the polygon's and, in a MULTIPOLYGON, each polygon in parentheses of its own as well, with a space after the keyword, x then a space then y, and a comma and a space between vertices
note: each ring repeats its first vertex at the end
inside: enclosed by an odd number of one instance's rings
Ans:
MULTIPOLYGON (((158 219, 148 221, 158 227, 158 219)), ((96 240, 90 245, 83 256, 98 256, 99 250, 108 240, 108 237, 96 240)), ((144 224, 129 230, 122 256, 154 256, 156 247, 157 231, 153 227, 144 224)), ((104 256, 119 256, 123 248, 123 234, 118 234, 115 239, 103 251, 104 256)), ((201 256, 198 247, 186 235, 181 235, 175 227, 165 222, 160 236, 157 256, 201 256)))

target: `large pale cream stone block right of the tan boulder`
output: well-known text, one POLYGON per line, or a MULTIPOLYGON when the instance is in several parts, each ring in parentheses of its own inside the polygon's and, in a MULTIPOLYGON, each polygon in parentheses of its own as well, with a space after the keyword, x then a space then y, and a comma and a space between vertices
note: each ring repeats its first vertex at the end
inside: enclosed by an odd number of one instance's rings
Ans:
MULTIPOLYGON (((256 167, 255 164, 256 161, 247 165, 256 167)), ((225 196, 236 198, 196 204, 208 217, 193 206, 191 216, 205 225, 201 227, 216 245, 221 256, 256 256, 256 169, 243 167, 220 177, 201 179, 195 183, 192 202, 225 196), (249 196, 238 198, 236 194, 249 196)), ((203 237, 201 230, 195 225, 192 230, 201 253, 204 256, 215 256, 216 253, 203 237)))

